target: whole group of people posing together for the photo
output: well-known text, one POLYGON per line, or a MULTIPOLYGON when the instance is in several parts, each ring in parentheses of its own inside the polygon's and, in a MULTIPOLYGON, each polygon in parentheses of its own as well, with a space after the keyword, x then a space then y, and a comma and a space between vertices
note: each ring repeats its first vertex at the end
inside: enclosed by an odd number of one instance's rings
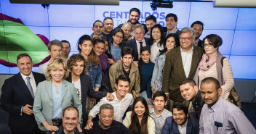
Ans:
POLYGON ((12 133, 256 133, 231 98, 233 72, 219 35, 201 41, 202 22, 179 30, 172 13, 167 27, 153 15, 145 25, 139 19, 132 8, 115 29, 111 17, 95 21, 72 56, 68 41, 50 41, 39 73, 31 56, 19 54, 20 72, 1 89, 12 133))

